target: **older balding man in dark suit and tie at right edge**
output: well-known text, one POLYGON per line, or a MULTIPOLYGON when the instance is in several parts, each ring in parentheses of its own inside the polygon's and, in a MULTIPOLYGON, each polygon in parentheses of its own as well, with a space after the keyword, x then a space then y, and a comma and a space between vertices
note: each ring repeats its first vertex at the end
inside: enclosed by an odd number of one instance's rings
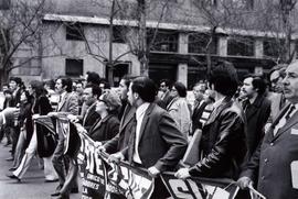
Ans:
POLYGON ((264 136, 262 145, 242 174, 242 188, 257 185, 268 199, 298 198, 298 62, 283 80, 286 106, 264 136))

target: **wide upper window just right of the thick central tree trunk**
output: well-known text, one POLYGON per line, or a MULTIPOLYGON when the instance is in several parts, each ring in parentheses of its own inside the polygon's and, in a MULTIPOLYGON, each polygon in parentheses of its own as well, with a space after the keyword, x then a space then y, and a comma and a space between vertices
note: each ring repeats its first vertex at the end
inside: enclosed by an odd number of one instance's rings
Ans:
POLYGON ((178 33, 170 31, 158 31, 155 37, 156 30, 148 31, 148 44, 150 51, 158 52, 178 52, 178 33))

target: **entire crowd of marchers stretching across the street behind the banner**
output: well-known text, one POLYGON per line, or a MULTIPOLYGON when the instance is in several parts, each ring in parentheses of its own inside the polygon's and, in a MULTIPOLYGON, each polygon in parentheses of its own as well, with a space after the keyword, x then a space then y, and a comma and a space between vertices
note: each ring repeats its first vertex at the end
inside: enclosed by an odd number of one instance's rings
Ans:
POLYGON ((45 181, 58 184, 52 197, 79 191, 77 157, 64 154, 63 132, 45 147, 44 136, 53 135, 33 128, 36 117, 64 115, 81 123, 110 162, 146 168, 156 178, 152 199, 170 197, 159 177, 166 170, 181 179, 234 179, 242 188, 238 198, 248 197, 249 186, 268 199, 298 198, 298 62, 275 66, 268 81, 254 74, 240 81, 231 63, 219 62, 207 79, 193 86, 193 102, 182 82, 158 84, 125 76, 114 89, 88 71, 79 81, 58 77, 25 87, 11 77, 2 87, 0 114, 1 140, 11 145, 8 177, 20 181, 38 154, 45 181), (10 108, 18 111, 8 114, 10 108), (195 139, 199 144, 190 145, 195 139), (188 147, 198 153, 185 153, 188 147))

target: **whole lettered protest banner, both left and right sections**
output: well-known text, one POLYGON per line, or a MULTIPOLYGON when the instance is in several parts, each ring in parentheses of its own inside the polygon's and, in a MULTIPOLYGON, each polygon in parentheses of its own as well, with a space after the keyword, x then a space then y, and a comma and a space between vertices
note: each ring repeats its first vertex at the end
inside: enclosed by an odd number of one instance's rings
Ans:
MULTIPOLYGON (((98 194, 109 198, 109 194, 119 194, 130 199, 150 198, 155 189, 155 179, 146 169, 137 168, 126 162, 108 162, 108 154, 99 152, 95 142, 84 132, 79 132, 81 148, 78 163, 83 177, 82 198, 96 198, 98 194)), ((188 178, 179 179, 173 173, 162 173, 161 179, 173 199, 234 199, 238 192, 232 179, 188 178)), ((252 199, 265 199, 255 189, 249 189, 252 199)))

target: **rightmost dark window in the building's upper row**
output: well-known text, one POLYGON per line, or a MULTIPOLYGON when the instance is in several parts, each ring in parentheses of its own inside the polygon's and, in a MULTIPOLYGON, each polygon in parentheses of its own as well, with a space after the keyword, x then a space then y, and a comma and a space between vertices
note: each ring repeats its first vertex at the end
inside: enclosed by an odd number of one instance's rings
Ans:
POLYGON ((265 56, 278 57, 284 40, 265 40, 263 43, 263 52, 265 56))

